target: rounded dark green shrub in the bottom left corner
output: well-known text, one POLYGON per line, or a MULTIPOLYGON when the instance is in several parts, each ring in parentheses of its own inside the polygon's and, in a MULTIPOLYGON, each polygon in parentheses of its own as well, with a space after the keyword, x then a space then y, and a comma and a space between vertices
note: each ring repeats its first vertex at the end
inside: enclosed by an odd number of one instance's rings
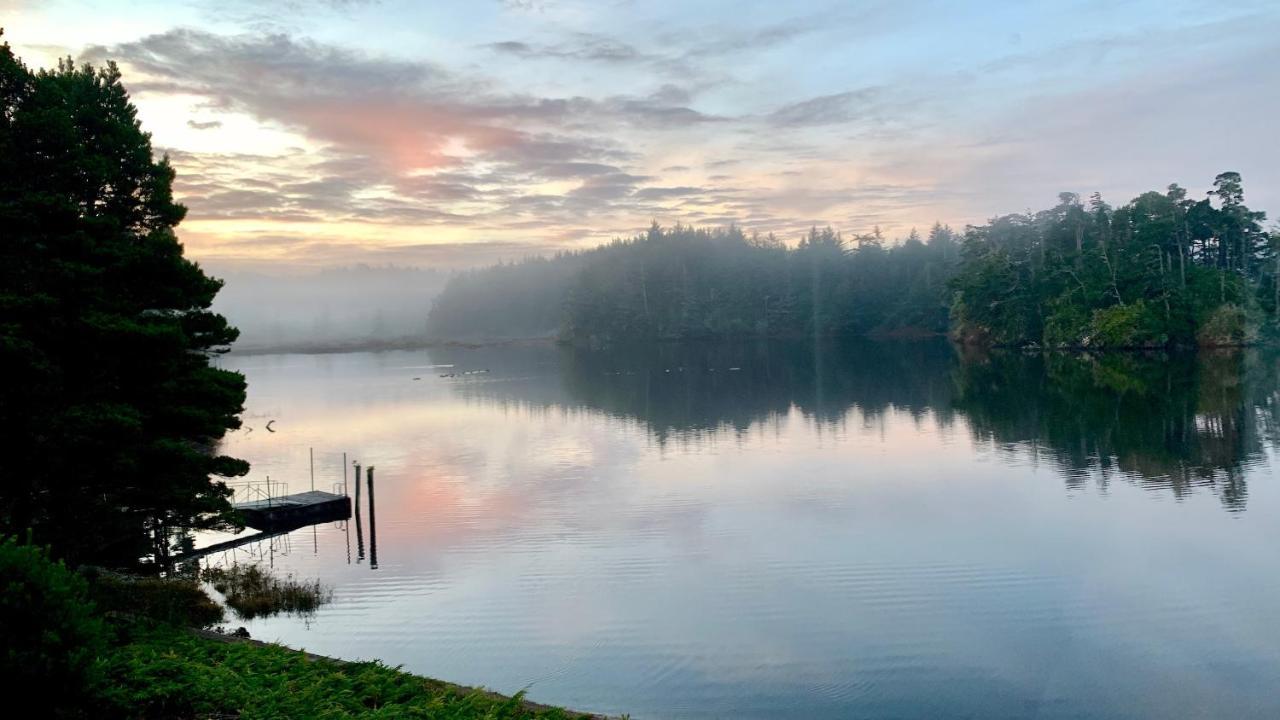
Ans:
POLYGON ((0 676, 70 715, 92 696, 108 632, 83 578, 47 551, 0 542, 0 676))

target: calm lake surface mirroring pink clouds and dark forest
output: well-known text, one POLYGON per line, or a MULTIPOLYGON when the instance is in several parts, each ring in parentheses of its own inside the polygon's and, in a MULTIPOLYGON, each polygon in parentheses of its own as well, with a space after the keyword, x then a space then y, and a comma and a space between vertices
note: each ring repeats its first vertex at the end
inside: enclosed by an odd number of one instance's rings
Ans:
POLYGON ((1274 357, 225 364, 252 478, 376 466, 358 528, 211 559, 334 588, 253 637, 637 719, 1280 717, 1274 357))

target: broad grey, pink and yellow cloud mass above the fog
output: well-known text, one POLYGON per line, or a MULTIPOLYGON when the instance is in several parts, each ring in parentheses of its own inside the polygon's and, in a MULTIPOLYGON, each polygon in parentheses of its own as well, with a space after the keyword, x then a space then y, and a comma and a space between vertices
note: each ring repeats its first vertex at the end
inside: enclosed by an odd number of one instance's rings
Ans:
POLYGON ((195 96, 205 111, 250 115, 320 143, 319 152, 275 155, 172 149, 179 197, 188 218, 204 223, 536 228, 541 237, 581 238, 600 232, 581 227, 585 217, 612 223, 611 215, 653 210, 654 196, 636 195, 648 176, 630 170, 640 156, 618 129, 722 122, 678 104, 689 94, 673 86, 646 96, 539 97, 426 61, 279 33, 178 29, 83 55, 119 59, 134 92, 195 96))

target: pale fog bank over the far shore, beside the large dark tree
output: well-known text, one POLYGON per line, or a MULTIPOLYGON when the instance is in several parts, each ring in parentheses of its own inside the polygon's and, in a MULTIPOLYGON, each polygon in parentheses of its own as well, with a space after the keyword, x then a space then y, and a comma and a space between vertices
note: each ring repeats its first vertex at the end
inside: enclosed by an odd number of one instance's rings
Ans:
POLYGON ((308 274, 215 272, 214 310, 241 331, 237 351, 323 350, 421 340, 447 273, 357 265, 308 274))

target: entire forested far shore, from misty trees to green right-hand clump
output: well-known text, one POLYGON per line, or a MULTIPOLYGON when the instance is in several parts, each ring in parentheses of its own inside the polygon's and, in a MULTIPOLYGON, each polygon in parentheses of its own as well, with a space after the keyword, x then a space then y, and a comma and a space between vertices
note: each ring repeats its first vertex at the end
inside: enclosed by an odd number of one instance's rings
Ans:
POLYGON ((1194 200, 1170 184, 1098 193, 963 233, 888 242, 810 228, 794 245, 739 227, 662 228, 594 250, 457 275, 436 337, 635 340, 950 333, 1027 347, 1247 345, 1275 334, 1280 233, 1226 172, 1194 200))

